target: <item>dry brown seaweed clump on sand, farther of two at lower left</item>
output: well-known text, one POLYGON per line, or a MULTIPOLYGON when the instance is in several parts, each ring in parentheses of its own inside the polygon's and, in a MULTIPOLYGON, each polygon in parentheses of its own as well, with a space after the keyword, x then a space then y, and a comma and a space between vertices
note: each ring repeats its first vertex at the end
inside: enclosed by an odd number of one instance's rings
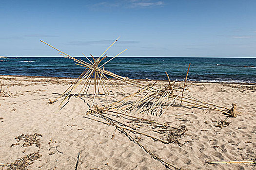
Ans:
POLYGON ((23 140, 24 142, 22 143, 22 147, 28 147, 28 146, 31 146, 31 145, 36 145, 36 147, 40 147, 40 138, 38 137, 42 137, 41 134, 39 133, 35 133, 35 134, 31 134, 31 135, 20 135, 20 136, 16 136, 15 137, 15 140, 17 140, 17 143, 13 143, 10 147, 13 147, 13 146, 16 146, 16 145, 19 145, 20 141, 23 140))

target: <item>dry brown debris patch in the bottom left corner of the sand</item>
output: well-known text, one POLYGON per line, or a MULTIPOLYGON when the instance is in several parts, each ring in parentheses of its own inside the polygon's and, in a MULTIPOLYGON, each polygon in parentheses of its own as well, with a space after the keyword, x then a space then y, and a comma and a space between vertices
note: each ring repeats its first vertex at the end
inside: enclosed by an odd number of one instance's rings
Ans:
POLYGON ((39 154, 39 151, 36 153, 30 153, 21 159, 18 159, 10 164, 4 164, 2 166, 6 166, 6 170, 29 170, 30 165, 34 163, 37 159, 39 159, 42 155, 39 154))

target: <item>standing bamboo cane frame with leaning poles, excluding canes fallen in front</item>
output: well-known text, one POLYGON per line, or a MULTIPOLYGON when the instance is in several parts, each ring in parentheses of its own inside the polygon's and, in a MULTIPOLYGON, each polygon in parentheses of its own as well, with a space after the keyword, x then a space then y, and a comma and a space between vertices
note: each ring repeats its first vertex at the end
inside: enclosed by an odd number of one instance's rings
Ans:
MULTIPOLYGON (((101 101, 103 98, 106 99, 107 106, 104 106, 106 109, 109 110, 118 110, 120 112, 125 113, 141 113, 141 114, 152 114, 156 116, 161 116, 165 113, 165 111, 169 108, 169 106, 176 104, 176 101, 180 101, 180 106, 190 106, 196 108, 203 108, 203 109, 212 109, 215 111, 222 112, 230 117, 236 117, 235 112, 230 111, 227 107, 218 106, 213 103, 203 102, 195 97, 185 93, 186 89, 186 82, 189 73, 190 64, 187 70, 186 78, 182 91, 179 88, 175 88, 175 81, 171 82, 169 75, 166 73, 169 85, 159 85, 158 81, 153 83, 154 81, 138 81, 129 79, 128 77, 123 77, 117 75, 113 72, 110 72, 104 68, 104 65, 109 63, 111 60, 116 58, 118 55, 126 51, 127 49, 121 51, 116 56, 112 57, 111 59, 107 60, 105 63, 100 63, 106 59, 108 56, 106 51, 112 47, 117 41, 119 37, 99 56, 94 57, 91 55, 92 60, 90 60, 86 55, 84 57, 88 60, 87 62, 72 57, 66 54, 63 51, 58 50, 57 48, 47 44, 46 42, 40 40, 44 44, 52 47, 53 49, 59 51, 59 54, 64 57, 75 61, 76 65, 84 67, 84 71, 80 74, 74 84, 70 85, 68 89, 61 94, 57 99, 51 101, 49 103, 54 103, 61 97, 63 97, 62 101, 59 104, 59 110, 64 107, 69 100, 73 97, 78 96, 87 96, 88 99, 91 99, 91 104, 88 104, 90 108, 94 106, 95 99, 98 96, 101 101), (100 66, 99 66, 100 65, 100 66), (115 78, 118 81, 125 83, 126 85, 132 85, 133 87, 137 87, 138 91, 133 94, 125 93, 123 86, 118 85, 112 81, 109 77, 115 78), (92 95, 89 95, 88 91, 90 86, 93 86, 92 95), (117 99, 118 96, 116 95, 116 91, 119 91, 124 95, 124 98, 121 100, 117 99), (172 99, 172 100, 169 100, 172 99), (114 102, 113 102, 114 101, 114 102), (112 102, 112 103, 111 103, 112 102)), ((99 104, 99 103, 97 103, 99 104)), ((103 105, 102 105, 103 106, 103 105)), ((58 110, 58 111, 59 111, 58 110)), ((57 111, 57 112, 58 112, 57 111)))

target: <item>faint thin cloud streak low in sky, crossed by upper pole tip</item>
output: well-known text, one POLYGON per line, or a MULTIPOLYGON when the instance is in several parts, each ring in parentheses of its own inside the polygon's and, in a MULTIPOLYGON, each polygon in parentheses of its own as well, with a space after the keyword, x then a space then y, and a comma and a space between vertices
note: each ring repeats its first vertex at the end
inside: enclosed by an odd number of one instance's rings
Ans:
MULTIPOLYGON (((70 41, 69 45, 80 45, 80 46, 87 46, 87 45, 97 45, 97 44, 112 44, 113 40, 99 40, 99 41, 70 41)), ((139 41, 118 41, 118 44, 136 44, 139 41)))

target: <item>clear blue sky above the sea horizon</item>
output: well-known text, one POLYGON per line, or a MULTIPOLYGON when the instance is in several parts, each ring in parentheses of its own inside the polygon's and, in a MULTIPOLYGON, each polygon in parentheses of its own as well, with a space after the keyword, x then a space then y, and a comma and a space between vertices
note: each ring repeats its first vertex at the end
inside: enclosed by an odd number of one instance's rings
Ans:
POLYGON ((256 57, 256 0, 0 0, 0 56, 256 57))

